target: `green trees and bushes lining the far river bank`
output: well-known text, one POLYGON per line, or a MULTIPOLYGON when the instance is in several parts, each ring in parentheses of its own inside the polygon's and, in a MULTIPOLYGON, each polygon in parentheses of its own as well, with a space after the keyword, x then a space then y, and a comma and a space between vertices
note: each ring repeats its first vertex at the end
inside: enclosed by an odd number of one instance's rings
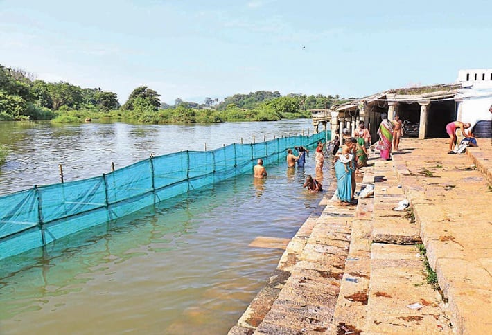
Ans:
POLYGON ((223 101, 205 98, 204 103, 176 99, 170 106, 160 94, 137 87, 123 105, 114 92, 81 88, 68 82, 44 82, 34 73, 0 64, 0 120, 53 120, 80 122, 87 119, 126 120, 139 123, 218 123, 244 120, 310 118, 309 109, 328 109, 340 104, 337 96, 306 96, 279 91, 234 94, 223 101))

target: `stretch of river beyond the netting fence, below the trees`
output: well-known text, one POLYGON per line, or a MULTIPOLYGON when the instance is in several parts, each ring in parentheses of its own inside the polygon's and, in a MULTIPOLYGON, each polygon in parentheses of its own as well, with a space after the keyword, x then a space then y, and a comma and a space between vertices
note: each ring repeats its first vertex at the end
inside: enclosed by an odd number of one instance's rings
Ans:
POLYGON ((0 167, 0 195, 33 185, 86 179, 123 168, 150 154, 212 150, 231 143, 261 142, 274 136, 312 134, 310 119, 209 125, 130 125, 0 122, 0 144, 8 147, 0 167))

